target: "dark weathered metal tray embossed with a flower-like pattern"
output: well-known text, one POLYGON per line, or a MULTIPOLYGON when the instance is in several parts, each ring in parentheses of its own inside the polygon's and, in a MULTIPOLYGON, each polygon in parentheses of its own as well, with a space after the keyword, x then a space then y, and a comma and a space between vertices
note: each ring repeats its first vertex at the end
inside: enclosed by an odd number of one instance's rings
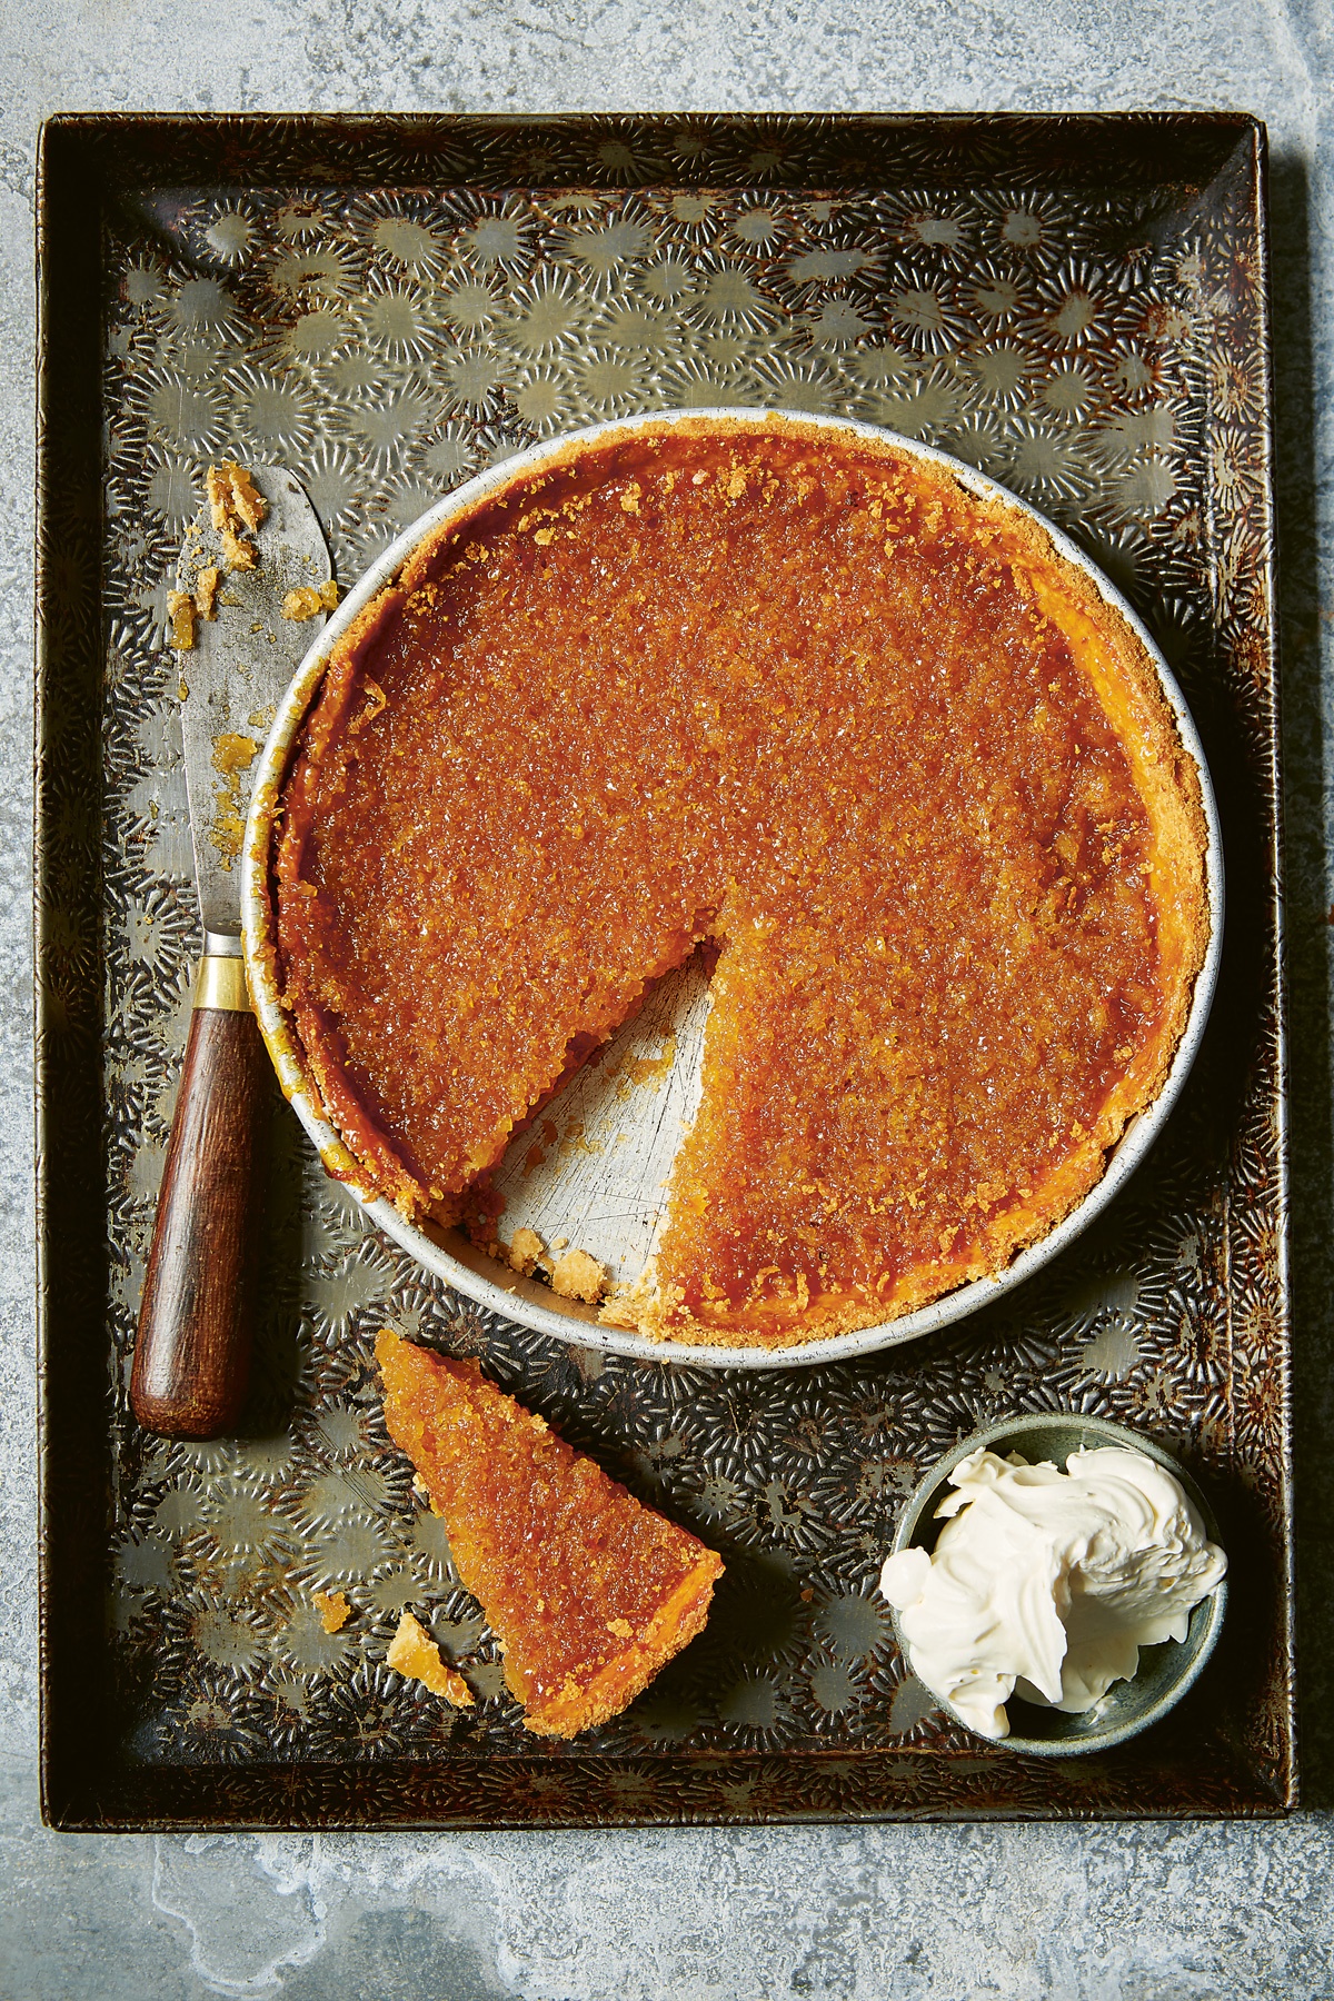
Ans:
MULTIPOLYGON (((42 142, 38 1077, 44 1811, 62 1827, 1278 1813, 1294 1803, 1264 132, 1134 118, 58 118, 42 142), (450 1293, 276 1101, 242 1437, 126 1383, 198 950, 166 590, 202 472, 280 458, 352 582, 556 430, 846 412, 1032 500, 1172 662, 1220 802, 1200 1057, 1094 1229, 954 1327, 816 1369, 644 1363, 450 1293), (392 1323, 486 1369, 728 1565, 632 1709, 524 1735, 382 1431, 392 1323), (962 1435, 1102 1413, 1232 1559, 1154 1731, 1026 1761, 946 1723, 876 1597, 962 1435), (328 1635, 312 1591, 354 1615, 328 1635), (384 1667, 412 1607, 484 1697, 384 1667)), ((650 1059, 646 1059, 650 1061, 650 1059)))

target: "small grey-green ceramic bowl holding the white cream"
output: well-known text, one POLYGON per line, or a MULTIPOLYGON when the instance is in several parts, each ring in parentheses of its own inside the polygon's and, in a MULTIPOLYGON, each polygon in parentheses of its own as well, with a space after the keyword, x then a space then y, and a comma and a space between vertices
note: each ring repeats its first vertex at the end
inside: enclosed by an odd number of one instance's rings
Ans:
MULTIPOLYGON (((930 1551, 936 1547, 942 1527, 936 1521, 936 1509, 952 1491, 950 1473, 968 1453, 986 1447, 1002 1459, 1018 1453, 1030 1465, 1050 1459, 1064 1469, 1070 1453, 1078 1453, 1080 1447, 1092 1449, 1098 1445, 1124 1445, 1132 1453, 1144 1453, 1146 1459, 1164 1467, 1184 1487, 1186 1499, 1200 1515, 1210 1543, 1222 1543, 1208 1501, 1186 1469, 1170 1453, 1164 1453, 1160 1445, 1138 1431, 1114 1425, 1106 1417, 1064 1417, 1052 1411, 1038 1417, 1012 1417, 1004 1425, 988 1425, 986 1431, 974 1431, 970 1439, 964 1439, 952 1453, 946 1453, 918 1481, 898 1523, 894 1551, 914 1547, 930 1551)), ((1026 1751, 1030 1757, 1074 1757, 1082 1751, 1110 1751, 1112 1745, 1126 1743, 1128 1737, 1138 1737, 1150 1723, 1166 1717, 1168 1709, 1180 1703, 1186 1689, 1198 1681, 1218 1641, 1226 1605, 1228 1581, 1224 1577, 1190 1613, 1190 1627, 1184 1641, 1162 1641, 1158 1647, 1142 1647, 1138 1675, 1132 1681, 1114 1681, 1102 1701, 1082 1715, 1066 1715, 1064 1709, 1044 1709, 1040 1703, 1026 1703, 1022 1697, 1012 1695, 1006 1703, 1010 1735, 998 1739, 1000 1747, 1006 1751, 1026 1751)), ((898 1611, 892 1607, 890 1611, 894 1639, 904 1661, 908 1661, 908 1643, 904 1641, 898 1611)), ((940 1707, 968 1729, 948 1703, 940 1707)), ((992 1743, 994 1739, 988 1737, 984 1741, 992 1743)))

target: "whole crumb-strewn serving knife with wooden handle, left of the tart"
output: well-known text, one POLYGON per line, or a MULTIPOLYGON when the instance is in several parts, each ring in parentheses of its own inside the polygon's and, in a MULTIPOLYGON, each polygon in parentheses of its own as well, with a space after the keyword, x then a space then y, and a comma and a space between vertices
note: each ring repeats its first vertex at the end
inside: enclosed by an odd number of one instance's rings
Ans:
POLYGON ((258 508, 246 486, 230 484, 232 470, 240 468, 210 472, 210 500, 220 496, 220 506, 190 528, 170 598, 174 638, 194 636, 172 658, 204 956, 144 1275, 130 1405, 146 1431, 172 1439, 216 1439, 246 1399, 272 1067, 240 954, 240 854, 268 726, 334 596, 324 530, 292 474, 248 466, 250 492, 264 502, 256 524, 258 508), (248 558, 252 568, 228 568, 248 558), (312 610, 322 586, 322 606, 312 610), (210 594, 214 616, 198 610, 210 594), (284 600, 312 616, 284 618, 284 600))

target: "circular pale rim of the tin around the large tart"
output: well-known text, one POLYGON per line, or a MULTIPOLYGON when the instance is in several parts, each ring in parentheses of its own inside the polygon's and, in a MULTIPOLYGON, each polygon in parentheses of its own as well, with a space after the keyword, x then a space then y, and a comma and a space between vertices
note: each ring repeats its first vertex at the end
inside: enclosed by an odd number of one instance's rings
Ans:
POLYGON ((440 502, 436 502, 436 506, 418 516, 418 520, 404 528, 402 534, 348 590, 338 610, 312 640, 312 646, 292 676, 256 766, 256 782, 242 848, 242 942, 246 970, 250 976, 250 992, 264 1043, 278 1071, 284 1097, 292 1103, 302 1127, 314 1141, 326 1171, 350 1189, 368 1219, 404 1251, 408 1251, 420 1265, 424 1265, 426 1271, 444 1279, 478 1305, 502 1313, 508 1319, 518 1319, 522 1325, 532 1327, 538 1333, 560 1341, 576 1341, 578 1345, 604 1349, 616 1355, 628 1355, 638 1361, 692 1363, 702 1367, 784 1369, 878 1353, 880 1349, 898 1347, 940 1327, 948 1327, 1034 1277, 1034 1273, 1050 1263, 1108 1207, 1114 1195, 1124 1187, 1134 1169, 1146 1157, 1166 1123, 1204 1035, 1218 982, 1222 930, 1222 836, 1218 804, 1204 748, 1184 694, 1166 658, 1162 656, 1162 650, 1110 578, 1068 534, 1064 534, 1064 530, 1046 520, 1038 508, 1030 506, 1030 502, 1022 500, 988 474, 978 472, 964 460, 954 458, 950 452, 942 452, 936 446, 922 444, 916 438, 906 438, 900 432, 864 422, 860 418, 820 416, 804 410, 782 408, 724 406, 652 410, 558 432, 556 436, 544 438, 538 444, 528 446, 524 452, 474 474, 474 478, 454 488, 454 492, 446 494, 440 502), (874 1327, 852 1329, 848 1333, 816 1337, 804 1343, 790 1343, 784 1347, 686 1343, 656 1339, 634 1329, 612 1327, 600 1321, 590 1307, 582 1307, 580 1303, 562 1301, 560 1305, 554 1305, 552 1301, 556 1295, 548 1293, 532 1279, 510 1275, 504 1267, 498 1267, 484 1253, 470 1247, 460 1233, 450 1233, 450 1237, 456 1239, 454 1247, 450 1247, 444 1241, 444 1233, 432 1233, 428 1227, 410 1223, 386 1195, 378 1195, 374 1189, 366 1187, 362 1165, 346 1147, 338 1129, 324 1117, 318 1089, 312 1085, 306 1053, 294 1033, 288 1011, 280 1005, 274 978, 274 908, 270 900, 270 852, 274 822, 280 810, 282 784, 294 754, 296 736, 306 712, 316 700, 328 658, 342 634, 356 622, 376 594, 404 570, 422 544, 434 542, 442 536, 442 532, 448 532, 452 524, 464 522, 472 512, 492 502, 516 480, 528 478, 534 472, 560 462, 570 452, 584 452, 594 446, 618 442, 620 438, 630 442, 644 432, 678 424, 706 424, 724 430, 728 424, 744 424, 748 428, 766 424, 776 430, 794 426, 802 434, 826 430, 834 436, 850 440, 870 440, 878 446, 888 444, 902 450, 910 458, 946 470, 970 496, 990 506, 1014 510, 1030 526, 1036 526, 1040 534, 1050 540, 1054 552, 1082 572, 1098 598, 1102 598, 1126 620, 1132 634, 1144 648, 1146 658, 1152 662, 1158 688, 1176 724, 1182 750, 1190 756, 1198 774, 1200 816, 1206 832, 1202 862, 1208 942, 1200 970, 1194 978, 1186 1023, 1158 1095, 1128 1121, 1120 1141, 1108 1151, 1106 1167, 1094 1187, 1044 1237, 1020 1249, 1000 1271, 972 1279, 966 1285, 960 1285, 954 1291, 926 1303, 924 1307, 910 1309, 898 1319, 882 1321, 874 1327), (498 1273, 504 1273, 504 1277, 498 1279, 498 1273))

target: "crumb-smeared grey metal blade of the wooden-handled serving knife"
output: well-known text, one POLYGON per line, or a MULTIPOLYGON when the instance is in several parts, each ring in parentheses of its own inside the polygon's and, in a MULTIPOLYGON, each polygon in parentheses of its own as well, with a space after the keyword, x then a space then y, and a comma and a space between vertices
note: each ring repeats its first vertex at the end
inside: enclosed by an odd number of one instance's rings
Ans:
MULTIPOLYGON (((318 590, 332 576, 328 542, 304 488, 284 466, 248 464, 268 512, 248 530, 254 570, 228 570, 210 510, 194 522, 178 588, 194 592, 200 570, 220 570, 214 618, 198 618, 194 646, 180 652, 180 722, 200 916, 210 938, 240 938, 240 852, 254 764, 274 710, 310 640, 326 624, 282 616, 290 590, 318 590)), ((212 946, 226 950, 222 942, 212 946)), ((232 946, 236 948, 236 946, 232 946)))

